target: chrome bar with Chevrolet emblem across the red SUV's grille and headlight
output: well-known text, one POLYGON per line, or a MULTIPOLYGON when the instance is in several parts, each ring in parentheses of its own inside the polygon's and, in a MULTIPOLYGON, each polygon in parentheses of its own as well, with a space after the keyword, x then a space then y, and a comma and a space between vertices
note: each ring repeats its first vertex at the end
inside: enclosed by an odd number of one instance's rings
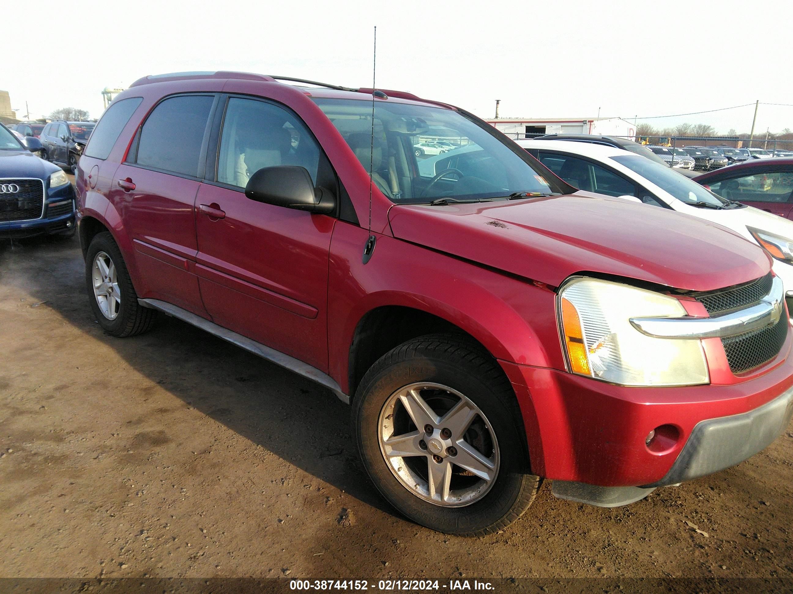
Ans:
POLYGON ((760 303, 715 318, 630 318, 642 334, 659 338, 726 338, 774 326, 784 310, 782 280, 775 276, 771 291, 760 303))

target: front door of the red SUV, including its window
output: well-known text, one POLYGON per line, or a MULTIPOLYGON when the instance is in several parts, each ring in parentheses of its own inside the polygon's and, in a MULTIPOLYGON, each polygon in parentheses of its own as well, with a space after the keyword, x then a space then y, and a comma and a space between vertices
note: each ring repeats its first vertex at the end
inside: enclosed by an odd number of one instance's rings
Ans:
POLYGON ((328 253, 335 218, 263 204, 247 181, 270 166, 302 166, 338 194, 328 158, 288 109, 228 97, 218 110, 207 180, 196 198, 201 297, 220 326, 328 369, 328 253), (221 129, 222 121, 222 129, 221 129))

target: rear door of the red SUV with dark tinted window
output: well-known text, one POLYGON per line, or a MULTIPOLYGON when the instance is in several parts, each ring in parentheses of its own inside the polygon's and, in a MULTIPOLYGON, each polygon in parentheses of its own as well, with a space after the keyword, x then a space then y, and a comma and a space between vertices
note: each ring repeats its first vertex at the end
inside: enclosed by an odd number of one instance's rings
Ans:
POLYGON ((208 317, 195 275, 194 202, 204 175, 214 93, 166 97, 138 129, 116 170, 111 200, 135 249, 142 298, 208 317))

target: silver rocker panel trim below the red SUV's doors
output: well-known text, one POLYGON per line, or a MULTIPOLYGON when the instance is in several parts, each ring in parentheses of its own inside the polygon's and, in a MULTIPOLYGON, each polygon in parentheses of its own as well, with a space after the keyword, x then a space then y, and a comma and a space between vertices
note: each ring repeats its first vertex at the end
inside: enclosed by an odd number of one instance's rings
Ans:
POLYGON ((244 348, 246 351, 262 357, 262 359, 266 359, 271 363, 289 369, 289 371, 293 371, 297 373, 297 375, 312 379, 316 383, 319 383, 320 386, 324 386, 328 388, 328 390, 331 390, 331 392, 345 404, 350 404, 350 396, 343 393, 341 386, 336 383, 335 379, 316 367, 303 363, 303 361, 295 359, 292 356, 285 355, 283 352, 276 351, 274 348, 262 345, 256 341, 251 341, 250 338, 243 337, 242 334, 232 332, 232 330, 224 328, 223 326, 218 326, 214 322, 209 322, 209 320, 201 318, 201 316, 197 316, 196 314, 191 314, 190 311, 183 310, 181 307, 176 307, 171 303, 160 301, 159 299, 138 299, 138 303, 140 303, 142 307, 149 307, 153 310, 162 311, 163 314, 170 315, 182 320, 182 322, 187 322, 197 328, 206 330, 210 334, 232 343, 232 345, 244 348))

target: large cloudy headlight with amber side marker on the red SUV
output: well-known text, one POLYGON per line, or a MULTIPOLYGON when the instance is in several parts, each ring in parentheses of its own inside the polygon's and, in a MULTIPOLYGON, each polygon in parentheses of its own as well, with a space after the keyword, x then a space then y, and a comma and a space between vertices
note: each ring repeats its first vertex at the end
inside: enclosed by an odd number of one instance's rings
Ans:
POLYGON ((687 315, 668 295, 607 280, 580 278, 559 292, 562 343, 570 371, 623 386, 708 383, 699 339, 640 333, 629 318, 687 315))

